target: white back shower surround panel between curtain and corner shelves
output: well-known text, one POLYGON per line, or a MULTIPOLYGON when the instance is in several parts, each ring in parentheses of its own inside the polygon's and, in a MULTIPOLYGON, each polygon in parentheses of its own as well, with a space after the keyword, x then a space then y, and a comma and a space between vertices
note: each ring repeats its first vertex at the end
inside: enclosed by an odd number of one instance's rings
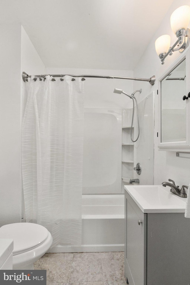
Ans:
POLYGON ((122 109, 85 108, 83 194, 121 193, 122 109))

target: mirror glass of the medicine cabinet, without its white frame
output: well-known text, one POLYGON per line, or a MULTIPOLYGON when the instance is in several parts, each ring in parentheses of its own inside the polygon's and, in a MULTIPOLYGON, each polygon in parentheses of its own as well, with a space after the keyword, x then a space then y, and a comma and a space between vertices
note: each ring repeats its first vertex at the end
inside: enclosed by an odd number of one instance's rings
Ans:
POLYGON ((161 143, 186 141, 186 59, 161 81, 161 143))

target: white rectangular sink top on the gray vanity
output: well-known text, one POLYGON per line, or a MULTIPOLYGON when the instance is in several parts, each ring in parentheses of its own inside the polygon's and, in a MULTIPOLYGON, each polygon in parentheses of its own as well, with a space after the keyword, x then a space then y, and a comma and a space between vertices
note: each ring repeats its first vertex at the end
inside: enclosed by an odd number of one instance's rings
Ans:
POLYGON ((143 213, 184 213, 187 198, 170 192, 162 185, 124 186, 143 213))

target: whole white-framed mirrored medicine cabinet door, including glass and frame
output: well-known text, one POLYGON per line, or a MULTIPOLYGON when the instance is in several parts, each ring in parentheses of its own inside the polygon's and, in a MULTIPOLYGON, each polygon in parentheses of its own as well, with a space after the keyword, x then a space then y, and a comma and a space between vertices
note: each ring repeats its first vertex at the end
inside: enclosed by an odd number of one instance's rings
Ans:
POLYGON ((159 79, 159 150, 190 150, 189 63, 187 49, 159 79))

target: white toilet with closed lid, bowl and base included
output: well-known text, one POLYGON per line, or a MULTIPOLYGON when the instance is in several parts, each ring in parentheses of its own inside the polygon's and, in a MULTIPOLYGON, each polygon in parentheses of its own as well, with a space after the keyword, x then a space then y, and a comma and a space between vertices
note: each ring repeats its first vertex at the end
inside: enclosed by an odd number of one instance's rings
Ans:
POLYGON ((13 269, 34 269, 34 262, 47 252, 53 242, 48 230, 38 224, 14 223, 0 228, 0 239, 12 238, 13 269))

